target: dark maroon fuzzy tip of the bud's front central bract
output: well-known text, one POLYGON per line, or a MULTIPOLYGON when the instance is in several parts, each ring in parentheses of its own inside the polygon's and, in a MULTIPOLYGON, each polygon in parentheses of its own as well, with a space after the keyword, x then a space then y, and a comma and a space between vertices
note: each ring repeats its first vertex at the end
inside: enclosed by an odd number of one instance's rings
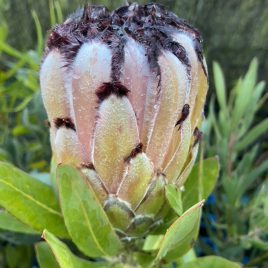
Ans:
POLYGON ((103 83, 97 91, 96 95, 98 96, 99 101, 104 101, 110 95, 114 94, 117 97, 127 96, 129 90, 123 86, 120 82, 113 83, 103 83))

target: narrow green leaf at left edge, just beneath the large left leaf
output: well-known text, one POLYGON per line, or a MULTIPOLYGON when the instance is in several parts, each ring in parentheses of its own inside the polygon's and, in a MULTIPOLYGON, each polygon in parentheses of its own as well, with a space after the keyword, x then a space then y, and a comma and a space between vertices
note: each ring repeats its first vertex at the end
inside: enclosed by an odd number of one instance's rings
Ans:
POLYGON ((5 210, 0 210, 0 229, 15 233, 38 234, 37 231, 20 222, 5 210))

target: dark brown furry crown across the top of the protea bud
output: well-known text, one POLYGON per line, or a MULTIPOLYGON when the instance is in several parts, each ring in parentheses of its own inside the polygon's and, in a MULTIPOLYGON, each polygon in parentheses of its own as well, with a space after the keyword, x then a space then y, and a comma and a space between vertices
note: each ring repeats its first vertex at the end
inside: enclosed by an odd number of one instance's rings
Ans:
MULTIPOLYGON (((68 64, 71 64, 83 43, 91 40, 103 41, 113 51, 112 80, 118 81, 124 60, 124 43, 131 37, 144 46, 152 69, 157 65, 161 51, 166 49, 178 57, 189 72, 191 66, 185 48, 173 40, 173 33, 176 31, 191 37, 203 66, 199 31, 155 3, 127 4, 112 12, 103 6, 85 5, 63 24, 54 27, 48 38, 46 53, 56 47, 68 60, 68 64)), ((204 66, 203 68, 205 70, 204 66)))

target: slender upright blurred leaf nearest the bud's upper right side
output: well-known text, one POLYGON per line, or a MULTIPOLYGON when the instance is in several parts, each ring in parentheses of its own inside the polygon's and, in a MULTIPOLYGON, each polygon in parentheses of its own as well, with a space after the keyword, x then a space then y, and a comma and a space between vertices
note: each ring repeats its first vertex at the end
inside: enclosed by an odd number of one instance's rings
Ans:
POLYGON ((216 89, 217 100, 220 104, 220 107, 227 117, 227 104, 226 104, 226 87, 222 69, 217 62, 213 62, 213 73, 214 73, 214 83, 216 89))

